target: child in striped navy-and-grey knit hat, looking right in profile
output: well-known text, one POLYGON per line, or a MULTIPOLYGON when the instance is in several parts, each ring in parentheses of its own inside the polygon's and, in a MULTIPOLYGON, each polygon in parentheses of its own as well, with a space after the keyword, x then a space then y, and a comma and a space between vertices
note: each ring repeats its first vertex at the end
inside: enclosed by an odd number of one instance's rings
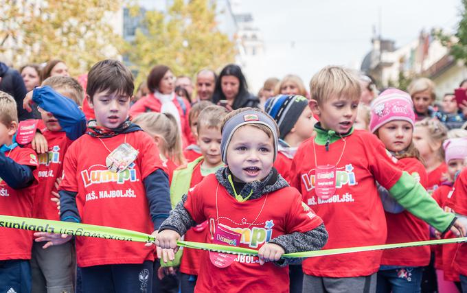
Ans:
POLYGON ((264 110, 273 117, 280 132, 274 167, 288 179, 293 156, 300 143, 312 136, 317 120, 308 107, 308 99, 301 95, 271 97, 266 101, 264 110))

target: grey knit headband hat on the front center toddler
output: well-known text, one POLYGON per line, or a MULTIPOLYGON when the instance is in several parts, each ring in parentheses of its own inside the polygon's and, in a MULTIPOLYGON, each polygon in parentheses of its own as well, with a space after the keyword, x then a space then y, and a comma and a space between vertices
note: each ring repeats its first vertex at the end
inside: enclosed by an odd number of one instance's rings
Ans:
POLYGON ((227 120, 222 128, 222 141, 220 142, 220 152, 222 161, 227 164, 227 147, 235 131, 248 124, 262 124, 271 129, 274 143, 274 161, 277 156, 277 126, 271 116, 256 110, 247 110, 232 116, 227 120))

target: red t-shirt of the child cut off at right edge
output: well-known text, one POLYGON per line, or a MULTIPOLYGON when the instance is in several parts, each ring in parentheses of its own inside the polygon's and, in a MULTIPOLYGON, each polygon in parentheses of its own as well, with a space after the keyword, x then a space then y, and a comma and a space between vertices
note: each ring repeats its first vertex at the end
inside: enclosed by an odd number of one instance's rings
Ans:
MULTIPOLYGON (((451 198, 448 194, 446 206, 459 215, 467 216, 467 169, 464 169, 455 180, 451 198)), ((467 243, 458 244, 454 258, 454 268, 460 274, 467 276, 467 243)))

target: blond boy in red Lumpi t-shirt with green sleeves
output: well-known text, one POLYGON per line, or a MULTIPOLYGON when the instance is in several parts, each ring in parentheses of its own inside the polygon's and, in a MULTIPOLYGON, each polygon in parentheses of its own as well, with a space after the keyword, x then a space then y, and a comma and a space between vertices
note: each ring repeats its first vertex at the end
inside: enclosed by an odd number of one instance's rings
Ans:
MULTIPOLYGON (((374 134, 352 128, 361 95, 356 75, 342 67, 325 67, 312 78, 310 89, 310 108, 319 115, 317 135, 297 150, 291 186, 323 218, 330 231, 326 248, 385 244, 387 226, 376 181, 407 211, 439 231, 448 231, 453 223, 460 227, 415 178, 398 169, 374 134)), ((374 292, 381 255, 377 250, 306 259, 304 292, 374 292)))

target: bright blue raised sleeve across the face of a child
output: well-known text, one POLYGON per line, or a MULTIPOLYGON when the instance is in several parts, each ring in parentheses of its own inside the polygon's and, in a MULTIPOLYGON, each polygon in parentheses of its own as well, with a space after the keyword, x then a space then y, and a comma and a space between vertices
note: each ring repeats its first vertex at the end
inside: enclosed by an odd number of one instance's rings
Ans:
POLYGON ((86 131, 86 117, 82 110, 72 99, 60 95, 50 86, 34 89, 32 100, 58 119, 62 130, 72 141, 78 139, 86 131))

